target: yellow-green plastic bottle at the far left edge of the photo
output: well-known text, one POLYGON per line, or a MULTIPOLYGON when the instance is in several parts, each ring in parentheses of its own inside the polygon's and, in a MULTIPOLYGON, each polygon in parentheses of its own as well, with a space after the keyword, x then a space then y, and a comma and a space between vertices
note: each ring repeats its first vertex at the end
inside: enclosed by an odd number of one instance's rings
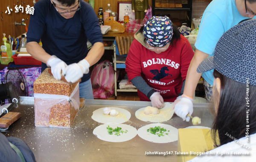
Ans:
POLYGON ((3 64, 9 64, 9 62, 13 61, 11 43, 7 40, 5 33, 3 33, 3 42, 1 44, 1 57, 1 63, 3 62, 3 64))

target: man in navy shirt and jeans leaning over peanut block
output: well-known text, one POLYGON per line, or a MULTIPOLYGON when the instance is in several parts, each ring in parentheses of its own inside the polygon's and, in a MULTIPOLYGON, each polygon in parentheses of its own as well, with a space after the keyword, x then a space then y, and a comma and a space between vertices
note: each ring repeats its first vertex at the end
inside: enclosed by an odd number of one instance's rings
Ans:
POLYGON ((81 78, 80 97, 93 99, 89 67, 102 57, 104 46, 98 18, 84 0, 38 1, 30 17, 26 49, 43 62, 42 71, 51 67, 55 79, 65 75, 74 83, 81 78), (89 52, 87 40, 93 44, 89 52))

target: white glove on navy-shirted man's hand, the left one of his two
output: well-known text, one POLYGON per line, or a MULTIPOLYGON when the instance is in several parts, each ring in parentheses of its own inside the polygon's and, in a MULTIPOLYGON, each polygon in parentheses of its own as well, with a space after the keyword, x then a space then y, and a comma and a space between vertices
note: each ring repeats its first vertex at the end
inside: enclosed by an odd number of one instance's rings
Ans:
POLYGON ((52 75, 57 80, 61 80, 61 75, 66 74, 67 64, 61 59, 57 58, 55 55, 52 55, 47 60, 47 66, 51 67, 52 75))

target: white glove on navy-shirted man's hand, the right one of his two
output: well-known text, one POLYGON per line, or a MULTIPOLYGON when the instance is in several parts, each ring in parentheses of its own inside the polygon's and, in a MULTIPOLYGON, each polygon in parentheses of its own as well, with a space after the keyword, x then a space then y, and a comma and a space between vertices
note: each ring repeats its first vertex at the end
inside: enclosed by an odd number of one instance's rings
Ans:
POLYGON ((75 83, 80 78, 82 78, 84 74, 87 74, 89 72, 89 67, 90 64, 85 59, 79 61, 79 63, 70 64, 66 68, 65 79, 67 80, 67 82, 75 83))

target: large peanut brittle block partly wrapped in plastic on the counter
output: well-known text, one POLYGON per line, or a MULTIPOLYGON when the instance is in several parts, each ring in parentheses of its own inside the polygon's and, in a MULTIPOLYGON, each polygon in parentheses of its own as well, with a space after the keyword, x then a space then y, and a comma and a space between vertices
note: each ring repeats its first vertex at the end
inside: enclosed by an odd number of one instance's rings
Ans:
POLYGON ((79 110, 79 83, 57 81, 45 69, 34 82, 35 126, 71 127, 79 110))

